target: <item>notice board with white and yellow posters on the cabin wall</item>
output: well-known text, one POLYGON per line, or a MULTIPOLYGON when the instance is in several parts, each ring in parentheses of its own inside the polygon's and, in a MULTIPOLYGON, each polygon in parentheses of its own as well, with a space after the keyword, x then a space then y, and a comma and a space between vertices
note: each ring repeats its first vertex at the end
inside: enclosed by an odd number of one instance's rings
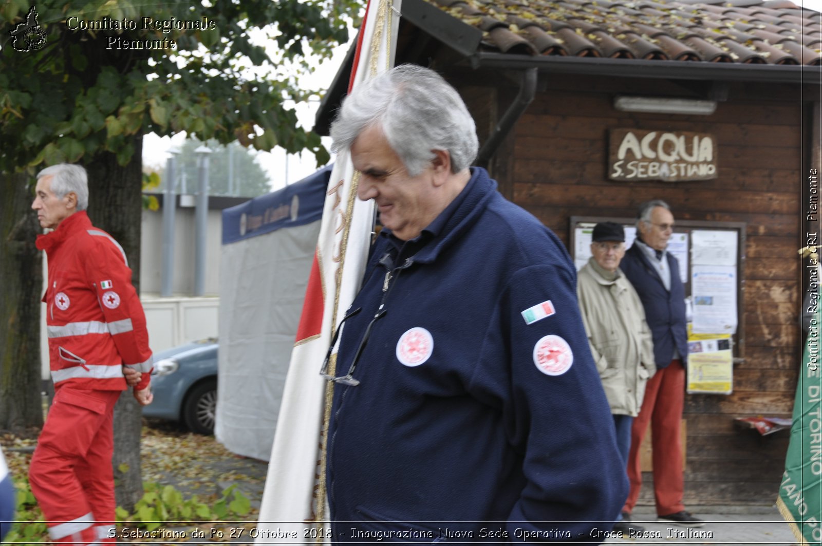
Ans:
MULTIPOLYGON (((570 253, 577 271, 591 256, 594 224, 617 222, 625 228, 626 248, 636 238, 636 220, 571 216, 570 253)), ((668 242, 679 262, 688 317, 689 393, 733 391, 733 363, 745 357, 746 223, 677 220, 668 242)))

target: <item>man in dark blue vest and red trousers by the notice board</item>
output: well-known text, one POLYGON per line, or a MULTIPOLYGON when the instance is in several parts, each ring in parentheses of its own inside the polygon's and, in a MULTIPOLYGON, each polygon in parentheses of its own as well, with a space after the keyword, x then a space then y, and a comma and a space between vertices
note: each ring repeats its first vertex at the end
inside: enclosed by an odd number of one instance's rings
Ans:
POLYGON ((637 238, 620 263, 620 269, 640 294, 653 337, 653 359, 657 365, 657 372, 645 387, 640 414, 631 427, 630 493, 623 517, 630 516, 640 497, 640 445, 650 422, 657 520, 700 527, 704 522, 692 516, 682 504, 680 422, 685 405, 684 363, 688 358, 688 333, 685 288, 679 276, 679 262, 666 250, 673 225, 671 207, 665 201, 657 199, 643 203, 636 221, 637 238))

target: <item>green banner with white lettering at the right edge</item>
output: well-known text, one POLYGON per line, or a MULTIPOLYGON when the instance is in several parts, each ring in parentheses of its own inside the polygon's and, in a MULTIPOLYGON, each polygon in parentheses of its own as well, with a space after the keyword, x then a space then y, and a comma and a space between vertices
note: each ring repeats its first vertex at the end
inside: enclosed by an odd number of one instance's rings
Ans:
POLYGON ((805 355, 793 404, 791 442, 777 507, 798 544, 822 544, 822 362, 820 309, 812 301, 805 355))

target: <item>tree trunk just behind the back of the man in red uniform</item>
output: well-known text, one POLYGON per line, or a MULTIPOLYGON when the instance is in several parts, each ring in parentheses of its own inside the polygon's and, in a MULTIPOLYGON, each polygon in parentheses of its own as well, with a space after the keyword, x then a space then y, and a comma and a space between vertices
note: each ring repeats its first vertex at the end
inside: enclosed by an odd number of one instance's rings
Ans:
MULTIPOLYGON (((142 135, 134 137, 134 155, 125 167, 117 157, 95 155, 85 169, 89 172, 89 217, 126 252, 132 268, 132 283, 140 292, 140 232, 142 220, 142 135)), ((143 495, 140 465, 141 408, 129 389, 114 407, 114 482, 118 506, 134 510, 143 495)))

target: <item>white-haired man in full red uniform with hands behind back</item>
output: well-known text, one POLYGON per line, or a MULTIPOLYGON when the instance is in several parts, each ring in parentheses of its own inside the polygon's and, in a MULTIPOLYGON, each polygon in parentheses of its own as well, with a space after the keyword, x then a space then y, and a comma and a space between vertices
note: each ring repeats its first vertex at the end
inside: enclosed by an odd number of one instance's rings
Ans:
POLYGON ((43 301, 54 400, 31 460, 31 491, 54 543, 113 543, 112 420, 126 368, 134 370, 136 400, 153 398, 145 314, 125 253, 85 213, 85 169, 58 164, 37 178, 31 208, 53 229, 38 236, 37 248, 48 256, 43 301))

